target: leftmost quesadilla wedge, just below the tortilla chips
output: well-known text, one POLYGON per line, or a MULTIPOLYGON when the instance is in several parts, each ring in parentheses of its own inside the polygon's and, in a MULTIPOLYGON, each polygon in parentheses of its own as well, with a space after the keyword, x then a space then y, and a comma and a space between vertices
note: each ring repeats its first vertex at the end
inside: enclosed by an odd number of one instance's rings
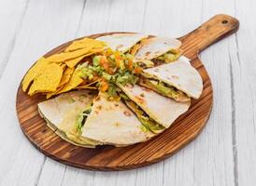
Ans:
POLYGON ((62 139, 82 147, 94 147, 101 144, 98 141, 81 138, 77 134, 77 121, 95 92, 79 90, 64 93, 54 99, 38 104, 40 115, 47 121, 48 126, 62 139))

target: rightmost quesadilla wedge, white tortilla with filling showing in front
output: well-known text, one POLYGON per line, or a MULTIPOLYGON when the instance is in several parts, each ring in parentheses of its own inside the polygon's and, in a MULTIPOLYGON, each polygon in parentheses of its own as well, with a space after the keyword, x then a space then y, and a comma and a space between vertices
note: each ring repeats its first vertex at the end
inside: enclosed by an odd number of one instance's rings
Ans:
POLYGON ((144 69, 139 85, 177 101, 198 99, 203 91, 201 75, 192 67, 190 61, 180 57, 163 65, 144 69))

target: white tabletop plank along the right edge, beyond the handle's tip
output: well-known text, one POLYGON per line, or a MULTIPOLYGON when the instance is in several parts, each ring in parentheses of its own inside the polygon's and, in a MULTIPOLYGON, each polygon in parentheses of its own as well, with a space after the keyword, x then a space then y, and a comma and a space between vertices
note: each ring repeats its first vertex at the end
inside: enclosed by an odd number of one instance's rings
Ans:
POLYGON ((233 73, 233 125, 235 129, 236 185, 256 182, 256 64, 255 1, 235 1, 235 15, 241 20, 235 42, 230 45, 233 73))

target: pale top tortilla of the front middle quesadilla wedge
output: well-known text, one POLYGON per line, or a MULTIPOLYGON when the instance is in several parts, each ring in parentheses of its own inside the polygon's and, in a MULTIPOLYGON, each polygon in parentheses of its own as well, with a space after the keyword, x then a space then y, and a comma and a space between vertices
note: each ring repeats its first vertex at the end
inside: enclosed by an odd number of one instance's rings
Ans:
POLYGON ((153 136, 142 130, 142 124, 122 101, 107 98, 106 93, 99 93, 93 100, 92 112, 83 126, 83 137, 125 146, 149 140, 153 136))

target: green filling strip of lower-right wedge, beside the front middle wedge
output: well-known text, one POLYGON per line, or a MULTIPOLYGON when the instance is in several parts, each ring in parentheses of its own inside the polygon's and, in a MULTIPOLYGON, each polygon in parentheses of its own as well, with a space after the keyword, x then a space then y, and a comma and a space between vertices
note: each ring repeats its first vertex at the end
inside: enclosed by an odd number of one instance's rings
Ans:
POLYGON ((141 129, 144 132, 151 131, 152 133, 160 133, 164 130, 164 126, 159 125, 152 120, 147 113, 139 108, 133 100, 130 100, 124 93, 120 93, 121 100, 136 114, 138 120, 141 122, 141 129))

